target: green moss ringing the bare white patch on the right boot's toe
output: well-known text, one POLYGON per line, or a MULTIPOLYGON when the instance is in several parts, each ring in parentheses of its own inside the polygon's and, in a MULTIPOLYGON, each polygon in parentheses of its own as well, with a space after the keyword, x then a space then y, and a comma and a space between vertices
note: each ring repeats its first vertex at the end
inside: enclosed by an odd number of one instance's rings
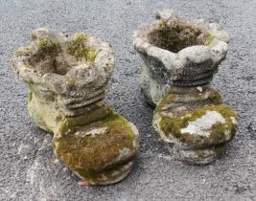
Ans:
POLYGON ((231 117, 237 119, 237 115, 233 109, 225 104, 219 104, 214 106, 202 106, 193 111, 187 111, 182 116, 167 117, 161 116, 161 122, 159 123, 161 130, 167 137, 172 135, 179 142, 189 146, 207 146, 218 145, 226 142, 226 133, 230 133, 231 140, 236 132, 236 124, 232 123, 231 117), (225 123, 215 123, 209 129, 210 136, 199 136, 197 134, 181 133, 181 129, 187 127, 190 122, 196 121, 198 118, 205 115, 206 111, 217 111, 224 118, 225 123))

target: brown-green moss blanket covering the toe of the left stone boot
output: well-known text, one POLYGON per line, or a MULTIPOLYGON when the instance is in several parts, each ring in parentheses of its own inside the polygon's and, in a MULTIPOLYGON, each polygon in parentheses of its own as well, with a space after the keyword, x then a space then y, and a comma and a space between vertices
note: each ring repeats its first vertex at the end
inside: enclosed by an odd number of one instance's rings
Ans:
POLYGON ((135 133, 128 121, 110 108, 104 108, 61 123, 53 140, 53 148, 68 167, 84 179, 96 181, 101 174, 131 160, 137 152, 134 140, 135 133), (104 134, 84 135, 92 129, 104 127, 104 134), (125 161, 118 160, 124 148, 132 154, 125 161))

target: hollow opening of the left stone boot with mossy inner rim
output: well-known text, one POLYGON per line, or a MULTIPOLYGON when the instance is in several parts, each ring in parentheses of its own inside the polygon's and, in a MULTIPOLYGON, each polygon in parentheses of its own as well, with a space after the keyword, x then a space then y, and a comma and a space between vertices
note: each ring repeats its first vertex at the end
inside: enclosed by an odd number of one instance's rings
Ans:
POLYGON ((58 37, 32 35, 34 44, 17 52, 25 56, 24 61, 40 73, 65 75, 72 66, 94 62, 97 52, 86 45, 87 35, 78 33, 64 42, 58 37))

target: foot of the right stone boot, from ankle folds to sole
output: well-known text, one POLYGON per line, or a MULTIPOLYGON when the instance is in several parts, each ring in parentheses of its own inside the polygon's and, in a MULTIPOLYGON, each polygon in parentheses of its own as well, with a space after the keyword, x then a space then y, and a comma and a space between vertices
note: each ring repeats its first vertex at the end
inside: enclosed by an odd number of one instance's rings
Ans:
POLYGON ((179 160, 209 164, 225 152, 237 128, 236 112, 221 102, 221 95, 210 86, 172 87, 154 110, 153 126, 174 145, 179 160))

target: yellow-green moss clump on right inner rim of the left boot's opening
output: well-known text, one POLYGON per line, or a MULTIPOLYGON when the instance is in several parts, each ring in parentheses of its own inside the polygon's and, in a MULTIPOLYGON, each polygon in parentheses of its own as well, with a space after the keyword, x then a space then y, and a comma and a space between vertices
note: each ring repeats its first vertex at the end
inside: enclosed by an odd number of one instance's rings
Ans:
POLYGON ((68 53, 80 61, 93 62, 97 56, 93 48, 85 45, 88 36, 84 33, 74 35, 73 40, 68 44, 68 53))

